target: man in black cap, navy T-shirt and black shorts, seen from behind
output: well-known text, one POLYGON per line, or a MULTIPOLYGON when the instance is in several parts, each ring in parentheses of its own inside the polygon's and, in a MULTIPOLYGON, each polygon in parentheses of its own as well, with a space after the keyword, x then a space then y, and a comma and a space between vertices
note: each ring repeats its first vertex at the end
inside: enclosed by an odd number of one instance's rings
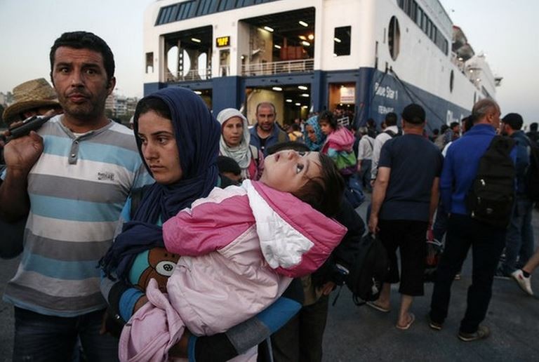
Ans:
POLYGON ((404 135, 387 140, 380 151, 368 222, 371 232, 379 233, 390 260, 382 293, 369 305, 390 311, 391 283, 400 280, 401 306, 396 327, 401 330, 410 328, 415 319, 409 311, 413 297, 423 295, 425 235, 438 203, 443 162, 439 149, 422 136, 424 128, 425 110, 420 105, 406 106, 402 112, 404 135), (400 279, 397 248, 401 254, 400 279))

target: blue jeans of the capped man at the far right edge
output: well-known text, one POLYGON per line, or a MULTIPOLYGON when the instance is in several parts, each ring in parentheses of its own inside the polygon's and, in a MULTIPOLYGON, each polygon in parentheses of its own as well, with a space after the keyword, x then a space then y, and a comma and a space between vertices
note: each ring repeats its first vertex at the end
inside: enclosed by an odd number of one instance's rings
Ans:
POLYGON ((505 262, 502 265, 504 274, 511 274, 518 267, 524 266, 533 255, 533 229, 531 227, 531 212, 533 202, 524 197, 518 197, 514 204, 511 223, 505 236, 505 262), (517 266, 517 257, 520 256, 517 266))

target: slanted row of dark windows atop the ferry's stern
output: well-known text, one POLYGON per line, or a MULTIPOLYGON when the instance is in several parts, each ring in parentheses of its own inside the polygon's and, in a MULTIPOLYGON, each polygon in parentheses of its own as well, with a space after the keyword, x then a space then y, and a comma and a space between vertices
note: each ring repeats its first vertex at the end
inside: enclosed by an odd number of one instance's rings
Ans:
POLYGON ((178 4, 164 6, 159 10, 155 25, 168 24, 178 20, 185 20, 201 15, 218 13, 220 11, 243 8, 257 4, 264 4, 275 0, 191 0, 178 4))

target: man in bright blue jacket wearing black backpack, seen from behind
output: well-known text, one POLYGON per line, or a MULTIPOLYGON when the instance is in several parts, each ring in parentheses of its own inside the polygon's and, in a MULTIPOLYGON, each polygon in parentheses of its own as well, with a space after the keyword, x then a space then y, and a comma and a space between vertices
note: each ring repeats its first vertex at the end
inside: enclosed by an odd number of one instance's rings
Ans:
POLYGON ((432 292, 429 324, 434 330, 443 327, 451 284, 472 246, 472 285, 458 333, 458 338, 465 342, 490 335, 488 327, 479 323, 485 319, 491 300, 493 277, 505 246, 505 229, 514 197, 514 141, 496 136, 500 107, 494 100, 479 100, 472 116, 473 128, 449 147, 441 173, 441 200, 450 216, 432 292))

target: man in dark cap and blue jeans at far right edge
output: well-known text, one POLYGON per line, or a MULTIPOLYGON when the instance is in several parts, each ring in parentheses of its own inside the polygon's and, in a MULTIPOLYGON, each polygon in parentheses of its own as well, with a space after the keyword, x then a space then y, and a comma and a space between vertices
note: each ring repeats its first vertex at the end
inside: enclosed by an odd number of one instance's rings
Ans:
POLYGON ((512 276, 517 271, 517 267, 522 267, 533 255, 533 229, 531 227, 533 200, 528 195, 528 189, 531 192, 533 187, 539 187, 539 185, 526 185, 526 177, 528 173, 535 170, 531 167, 531 161, 533 161, 531 152, 537 146, 521 130, 523 123, 521 115, 517 113, 507 114, 502 119, 502 131, 516 141, 514 147, 517 150, 515 163, 517 199, 505 236, 505 260, 496 272, 496 276, 502 278, 512 276), (519 259, 518 266, 517 258, 519 259))

